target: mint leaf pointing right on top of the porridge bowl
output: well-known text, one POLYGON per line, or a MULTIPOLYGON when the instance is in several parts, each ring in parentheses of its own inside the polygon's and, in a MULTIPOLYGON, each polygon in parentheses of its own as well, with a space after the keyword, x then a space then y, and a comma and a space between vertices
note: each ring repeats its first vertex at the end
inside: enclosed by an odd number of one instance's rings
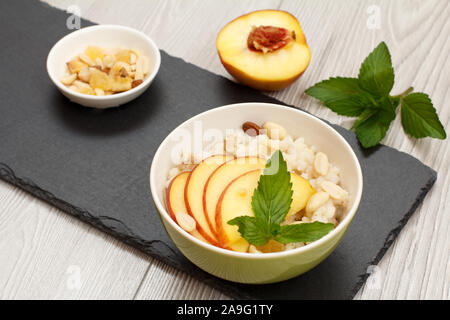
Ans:
POLYGON ((316 241, 333 230, 332 223, 312 222, 281 226, 275 240, 281 243, 316 241))

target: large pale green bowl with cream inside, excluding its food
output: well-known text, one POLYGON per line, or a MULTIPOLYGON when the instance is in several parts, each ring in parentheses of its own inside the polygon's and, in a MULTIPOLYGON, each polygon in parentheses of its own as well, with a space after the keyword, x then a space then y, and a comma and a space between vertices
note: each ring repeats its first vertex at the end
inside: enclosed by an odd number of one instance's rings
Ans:
POLYGON ((187 120, 161 143, 150 169, 150 189, 155 206, 177 248, 192 263, 206 272, 240 283, 263 284, 283 281, 318 265, 344 237, 358 209, 362 188, 363 179, 358 159, 350 145, 336 130, 303 111, 266 103, 223 106, 187 120), (279 123, 293 138, 304 137, 307 144, 325 152, 330 161, 340 168, 341 183, 349 191, 350 201, 344 218, 325 237, 294 250, 266 254, 240 253, 200 241, 172 220, 164 200, 167 175, 175 166, 171 155, 176 153, 177 148, 185 147, 189 142, 195 145, 194 139, 210 143, 211 132, 225 133, 226 129, 240 128, 245 121, 279 123), (199 135, 199 132, 203 134, 199 135))

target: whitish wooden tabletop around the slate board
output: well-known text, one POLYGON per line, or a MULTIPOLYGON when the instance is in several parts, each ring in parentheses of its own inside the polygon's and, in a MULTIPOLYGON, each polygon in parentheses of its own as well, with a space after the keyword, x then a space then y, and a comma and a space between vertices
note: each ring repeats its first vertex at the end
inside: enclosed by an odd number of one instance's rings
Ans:
MULTIPOLYGON (((84 18, 97 23, 142 30, 168 53, 227 77, 215 49, 220 28, 252 10, 287 10, 302 24, 312 61, 299 81, 273 96, 347 128, 350 120, 320 107, 303 91, 332 75, 356 75, 362 59, 385 40, 396 71, 394 92, 413 85, 429 93, 450 133, 448 0, 47 2, 64 10, 77 5, 84 18), (370 19, 377 13, 380 28, 373 28, 370 19)), ((356 298, 449 299, 449 143, 408 138, 398 119, 384 143, 437 170, 438 180, 356 298)), ((227 297, 0 182, 0 298, 227 297)))

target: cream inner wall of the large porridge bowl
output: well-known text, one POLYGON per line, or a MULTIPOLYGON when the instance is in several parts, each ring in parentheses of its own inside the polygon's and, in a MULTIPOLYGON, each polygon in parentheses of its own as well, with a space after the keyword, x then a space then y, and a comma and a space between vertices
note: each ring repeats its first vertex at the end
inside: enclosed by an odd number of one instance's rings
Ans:
MULTIPOLYGON (((177 127, 160 145, 153 159, 150 183, 152 188, 156 188, 152 190, 157 197, 154 199, 155 203, 164 209, 162 212, 167 219, 170 217, 164 205, 164 190, 168 172, 174 167, 170 155, 180 144, 179 136, 193 132, 194 126, 201 125, 202 130, 218 129, 225 132, 226 129, 241 128, 245 121, 257 124, 265 121, 279 123, 294 139, 303 137, 306 144, 325 152, 330 162, 341 170, 341 184, 350 194, 349 205, 344 215, 350 211, 355 213, 362 193, 361 169, 351 147, 337 131, 323 121, 294 108, 265 103, 243 103, 211 109, 189 119, 177 127)), ((343 220, 351 220, 346 218, 343 220)))

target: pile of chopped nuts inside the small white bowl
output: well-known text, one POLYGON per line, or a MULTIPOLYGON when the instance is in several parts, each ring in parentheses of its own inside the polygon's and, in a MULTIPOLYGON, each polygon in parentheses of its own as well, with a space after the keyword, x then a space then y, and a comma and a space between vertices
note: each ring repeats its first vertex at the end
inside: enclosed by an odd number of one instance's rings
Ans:
POLYGON ((150 73, 146 56, 121 48, 89 46, 66 65, 61 82, 73 91, 97 96, 130 90, 150 73))

